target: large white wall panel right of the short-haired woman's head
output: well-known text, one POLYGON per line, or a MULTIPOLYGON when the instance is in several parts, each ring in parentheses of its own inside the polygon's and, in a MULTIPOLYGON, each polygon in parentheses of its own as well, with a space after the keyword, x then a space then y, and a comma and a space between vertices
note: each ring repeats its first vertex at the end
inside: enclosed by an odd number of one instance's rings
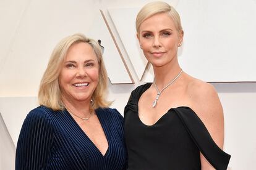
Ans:
POLYGON ((186 1, 179 11, 184 43, 179 61, 190 75, 211 82, 256 81, 256 3, 186 1))

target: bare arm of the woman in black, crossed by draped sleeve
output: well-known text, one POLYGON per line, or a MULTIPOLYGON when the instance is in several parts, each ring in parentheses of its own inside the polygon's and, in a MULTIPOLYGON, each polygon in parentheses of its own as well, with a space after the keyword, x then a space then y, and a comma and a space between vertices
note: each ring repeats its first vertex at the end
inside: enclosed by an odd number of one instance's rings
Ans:
MULTIPOLYGON (((214 87, 208 83, 198 83, 193 92, 193 109, 207 127, 214 142, 223 149, 224 118, 223 108, 214 87)), ((215 169, 200 153, 201 169, 215 169)))

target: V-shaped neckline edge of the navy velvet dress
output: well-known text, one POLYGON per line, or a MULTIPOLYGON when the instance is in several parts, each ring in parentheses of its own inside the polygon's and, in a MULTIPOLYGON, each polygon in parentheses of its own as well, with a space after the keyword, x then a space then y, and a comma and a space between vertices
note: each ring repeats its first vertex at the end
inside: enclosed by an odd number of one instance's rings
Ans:
POLYGON ((106 130, 105 130, 105 125, 103 124, 103 121, 104 121, 104 120, 102 120, 102 119, 100 118, 99 113, 98 113, 98 109, 95 109, 95 113, 96 113, 97 118, 98 118, 99 121, 100 121, 100 125, 101 125, 101 127, 102 127, 102 129, 103 129, 103 132, 104 132, 104 134, 105 134, 106 140, 107 140, 107 142, 108 142, 108 148, 107 148, 107 150, 106 150, 106 152, 105 152, 104 155, 103 155, 103 153, 100 152, 100 149, 99 149, 98 147, 96 147, 96 145, 95 145, 94 142, 90 139, 90 137, 87 136, 87 134, 85 133, 85 131, 83 131, 83 129, 82 129, 82 128, 79 126, 79 124, 75 121, 75 119, 72 117, 72 115, 70 115, 69 111, 67 111, 67 109, 65 109, 65 111, 66 111, 67 115, 69 115, 70 118, 72 119, 72 121, 75 123, 75 126, 77 126, 77 127, 80 129, 80 131, 82 132, 82 134, 88 139, 88 141, 89 141, 90 144, 95 148, 95 150, 96 150, 98 153, 100 153, 101 156, 103 156, 104 158, 106 158, 106 155, 107 155, 108 152, 109 152, 109 147, 110 147, 110 145, 109 145, 108 136, 106 135, 107 132, 106 132, 106 130))

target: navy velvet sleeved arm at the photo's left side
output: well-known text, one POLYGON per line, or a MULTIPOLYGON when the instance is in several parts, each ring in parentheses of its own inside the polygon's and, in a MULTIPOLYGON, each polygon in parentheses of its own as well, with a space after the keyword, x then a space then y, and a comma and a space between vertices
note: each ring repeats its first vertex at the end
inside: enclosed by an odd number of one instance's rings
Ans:
POLYGON ((30 111, 20 131, 15 169, 47 169, 53 126, 42 108, 30 111))

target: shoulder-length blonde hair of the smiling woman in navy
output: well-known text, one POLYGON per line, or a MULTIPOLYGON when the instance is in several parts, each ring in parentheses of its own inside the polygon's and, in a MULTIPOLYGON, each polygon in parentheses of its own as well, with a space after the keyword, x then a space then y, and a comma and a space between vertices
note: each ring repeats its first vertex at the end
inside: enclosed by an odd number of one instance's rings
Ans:
POLYGON ((94 101, 92 108, 104 108, 111 104, 111 102, 108 102, 105 99, 108 87, 108 75, 103 62, 101 48, 98 42, 87 38, 83 34, 74 34, 62 39, 54 48, 53 53, 51 54, 48 66, 45 70, 43 78, 41 79, 38 92, 38 101, 40 105, 45 105, 46 107, 52 108, 53 110, 62 110, 65 108, 64 103, 62 102, 62 93, 59 87, 58 79, 70 46, 79 42, 85 42, 92 46, 99 64, 99 81, 92 95, 92 100, 94 101))

